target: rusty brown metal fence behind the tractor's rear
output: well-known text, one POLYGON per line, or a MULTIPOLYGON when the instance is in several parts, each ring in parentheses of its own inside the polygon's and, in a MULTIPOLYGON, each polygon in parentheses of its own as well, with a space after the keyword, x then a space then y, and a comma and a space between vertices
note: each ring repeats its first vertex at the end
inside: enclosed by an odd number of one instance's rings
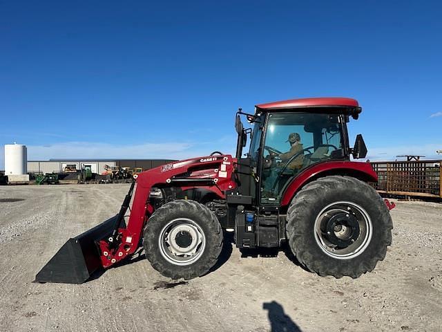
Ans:
POLYGON ((442 198, 442 160, 372 162, 379 193, 442 198))

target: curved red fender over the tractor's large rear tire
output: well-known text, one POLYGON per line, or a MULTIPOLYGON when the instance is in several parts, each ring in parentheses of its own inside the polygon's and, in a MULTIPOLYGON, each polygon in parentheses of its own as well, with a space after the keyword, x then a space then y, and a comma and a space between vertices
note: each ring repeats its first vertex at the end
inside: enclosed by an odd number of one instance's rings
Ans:
POLYGON ((354 161, 326 161, 304 169, 296 176, 282 194, 281 207, 286 207, 295 194, 307 183, 329 175, 347 175, 364 182, 378 182, 372 165, 354 161))

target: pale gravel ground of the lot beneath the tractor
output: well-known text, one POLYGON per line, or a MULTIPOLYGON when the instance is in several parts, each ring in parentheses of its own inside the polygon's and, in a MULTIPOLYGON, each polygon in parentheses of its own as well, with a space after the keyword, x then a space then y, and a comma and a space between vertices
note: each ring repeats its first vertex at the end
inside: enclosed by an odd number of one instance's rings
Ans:
POLYGON ((442 331, 442 204, 396 201, 393 246, 358 279, 227 245, 171 283, 135 259, 81 285, 35 284, 69 238, 117 213, 128 185, 0 187, 0 331, 442 331), (21 199, 21 200, 11 200, 21 199))

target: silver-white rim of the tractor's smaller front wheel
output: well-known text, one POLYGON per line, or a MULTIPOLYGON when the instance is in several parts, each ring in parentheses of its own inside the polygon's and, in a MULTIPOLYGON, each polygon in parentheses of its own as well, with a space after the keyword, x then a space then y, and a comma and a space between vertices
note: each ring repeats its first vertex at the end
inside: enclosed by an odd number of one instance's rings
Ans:
POLYGON ((195 221, 178 218, 169 221, 158 239, 161 255, 172 264, 185 266, 197 261, 206 246, 206 237, 195 221))

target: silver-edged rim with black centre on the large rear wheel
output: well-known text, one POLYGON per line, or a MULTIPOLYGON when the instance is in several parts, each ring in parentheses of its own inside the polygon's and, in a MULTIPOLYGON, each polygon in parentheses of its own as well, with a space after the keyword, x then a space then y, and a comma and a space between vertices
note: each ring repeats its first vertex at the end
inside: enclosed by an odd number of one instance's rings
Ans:
POLYGON ((327 205, 315 220, 314 236, 329 257, 352 259, 369 245, 373 234, 372 220, 356 203, 340 201, 327 205))

